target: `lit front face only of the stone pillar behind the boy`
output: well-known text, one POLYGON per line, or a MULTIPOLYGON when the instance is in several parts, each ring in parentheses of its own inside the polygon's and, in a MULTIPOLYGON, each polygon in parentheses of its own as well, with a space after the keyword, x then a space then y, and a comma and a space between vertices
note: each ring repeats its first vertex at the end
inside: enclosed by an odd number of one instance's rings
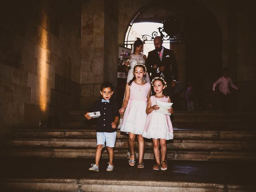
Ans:
POLYGON ((100 96, 104 80, 104 10, 104 0, 82 1, 81 108, 85 109, 100 96))

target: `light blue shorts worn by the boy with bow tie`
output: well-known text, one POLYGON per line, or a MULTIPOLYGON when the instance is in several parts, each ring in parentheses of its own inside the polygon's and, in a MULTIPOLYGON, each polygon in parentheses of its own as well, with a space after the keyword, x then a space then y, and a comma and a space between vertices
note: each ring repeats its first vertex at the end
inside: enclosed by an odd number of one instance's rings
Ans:
POLYGON ((115 146, 116 131, 112 133, 96 132, 96 136, 97 136, 97 145, 103 145, 103 147, 105 147, 105 142, 106 142, 106 146, 108 147, 115 146))

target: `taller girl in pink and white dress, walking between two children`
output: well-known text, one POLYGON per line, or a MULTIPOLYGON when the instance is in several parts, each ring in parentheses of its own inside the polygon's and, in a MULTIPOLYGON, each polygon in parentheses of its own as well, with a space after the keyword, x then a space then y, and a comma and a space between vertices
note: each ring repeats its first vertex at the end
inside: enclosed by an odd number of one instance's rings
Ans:
POLYGON ((144 138, 142 133, 145 127, 147 114, 147 100, 150 96, 150 84, 143 81, 146 74, 146 66, 138 63, 133 68, 134 77, 126 84, 125 97, 119 113, 124 113, 120 131, 129 134, 130 166, 135 165, 135 136, 138 135, 139 162, 137 168, 144 168, 144 138))

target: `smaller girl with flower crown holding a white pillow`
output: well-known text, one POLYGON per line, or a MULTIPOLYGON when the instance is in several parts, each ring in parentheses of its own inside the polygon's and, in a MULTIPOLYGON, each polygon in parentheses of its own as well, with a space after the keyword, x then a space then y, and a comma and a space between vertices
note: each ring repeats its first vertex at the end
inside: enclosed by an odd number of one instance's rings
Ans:
MULTIPOLYGON (((153 140, 154 156, 156 160, 153 170, 167 170, 166 140, 173 139, 172 122, 169 115, 156 112, 156 110, 159 109, 159 106, 156 105, 156 100, 171 102, 171 99, 166 95, 166 82, 164 81, 164 78, 156 77, 152 80, 151 84, 154 88, 154 93, 148 99, 146 109, 148 117, 142 136, 145 138, 152 138, 153 140), (161 146, 161 162, 159 143, 161 146)), ((172 108, 167 111, 173 114, 172 108)))

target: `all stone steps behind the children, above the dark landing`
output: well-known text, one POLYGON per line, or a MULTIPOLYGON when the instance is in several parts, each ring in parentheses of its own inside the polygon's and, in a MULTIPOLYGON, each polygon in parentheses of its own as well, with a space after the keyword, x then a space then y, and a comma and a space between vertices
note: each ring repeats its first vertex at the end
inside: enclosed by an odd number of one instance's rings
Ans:
MULTIPOLYGON (((70 111, 59 129, 16 129, 8 139, 8 156, 93 158, 96 148, 95 125, 82 111, 70 111), (90 124, 89 124, 90 123, 90 124)), ((252 160, 256 159, 256 131, 248 126, 250 115, 217 112, 177 112, 173 124, 206 124, 205 129, 174 128, 174 140, 167 142, 170 160, 252 160), (182 122, 182 119, 184 122, 182 122), (208 123, 209 122, 209 123, 208 123), (212 126, 209 128, 207 124, 212 126), (247 124, 247 126, 242 126, 247 124), (219 127, 219 125, 222 125, 219 127), (224 129, 225 126, 229 129, 224 129), (238 130, 238 126, 240 129, 238 130), (214 130, 214 127, 218 129, 214 130), (232 128, 231 128, 232 127, 232 128), (209 128, 209 129, 208 129, 209 128)), ((137 142, 136 142, 137 147, 137 142)), ((138 152, 138 150, 136 150, 138 152)), ((128 137, 118 130, 115 158, 127 158, 128 137)), ((104 150, 102 157, 107 158, 104 150)), ((152 141, 145 139, 145 159, 153 159, 152 141)))

